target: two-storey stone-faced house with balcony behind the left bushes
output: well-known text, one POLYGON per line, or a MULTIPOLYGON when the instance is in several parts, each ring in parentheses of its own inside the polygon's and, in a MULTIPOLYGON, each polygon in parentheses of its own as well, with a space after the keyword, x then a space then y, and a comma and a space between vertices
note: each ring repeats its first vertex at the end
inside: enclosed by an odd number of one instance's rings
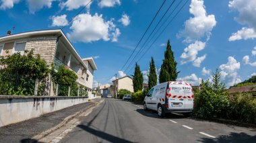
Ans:
MULTIPOLYGON (((34 49, 34 54, 39 54, 55 70, 63 65, 77 74, 77 83, 86 87, 88 97, 92 95, 92 81, 94 70, 97 70, 92 57, 82 59, 69 42, 62 30, 38 30, 0 37, 0 56, 7 56, 15 52, 24 54, 24 50, 34 49)), ((50 96, 55 95, 53 82, 49 78, 50 96)))

